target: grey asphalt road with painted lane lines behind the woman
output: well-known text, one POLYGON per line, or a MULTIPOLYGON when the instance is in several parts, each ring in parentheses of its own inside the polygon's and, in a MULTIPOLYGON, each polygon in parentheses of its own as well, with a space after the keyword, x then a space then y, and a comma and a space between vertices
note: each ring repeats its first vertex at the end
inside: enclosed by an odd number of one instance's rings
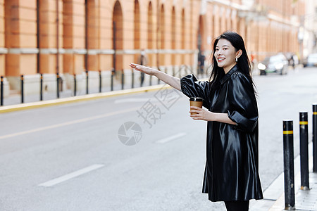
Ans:
MULTIPOLYGON (((294 120, 299 154, 316 79, 317 68, 254 77, 263 190, 283 170, 282 120, 294 120)), ((188 110, 163 89, 1 114, 0 210, 224 210, 201 193, 206 122, 188 110)))

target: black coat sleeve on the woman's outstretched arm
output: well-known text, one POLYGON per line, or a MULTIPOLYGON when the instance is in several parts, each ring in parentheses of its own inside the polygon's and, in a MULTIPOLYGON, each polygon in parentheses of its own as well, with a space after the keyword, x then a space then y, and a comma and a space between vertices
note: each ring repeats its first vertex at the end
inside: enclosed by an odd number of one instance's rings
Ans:
POLYGON ((204 98, 203 106, 209 109, 209 82, 197 81, 197 78, 189 74, 180 79, 182 93, 190 97, 204 98))

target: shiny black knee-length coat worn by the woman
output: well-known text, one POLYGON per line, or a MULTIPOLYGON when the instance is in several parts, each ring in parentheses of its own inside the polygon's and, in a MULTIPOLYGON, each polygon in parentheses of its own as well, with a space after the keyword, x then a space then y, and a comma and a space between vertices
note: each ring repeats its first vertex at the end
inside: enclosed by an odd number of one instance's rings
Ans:
POLYGON ((181 80, 186 96, 204 98, 204 107, 228 113, 237 124, 208 122, 203 193, 211 201, 263 198, 259 178, 258 108, 252 83, 233 67, 212 94, 210 82, 194 75, 181 80))

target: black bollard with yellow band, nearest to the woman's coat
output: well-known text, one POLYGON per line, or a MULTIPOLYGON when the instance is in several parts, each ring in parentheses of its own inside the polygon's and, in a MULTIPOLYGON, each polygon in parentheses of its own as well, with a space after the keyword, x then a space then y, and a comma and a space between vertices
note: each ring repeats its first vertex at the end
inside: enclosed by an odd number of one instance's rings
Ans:
POLYGON ((295 207, 293 121, 283 120, 285 210, 295 207))

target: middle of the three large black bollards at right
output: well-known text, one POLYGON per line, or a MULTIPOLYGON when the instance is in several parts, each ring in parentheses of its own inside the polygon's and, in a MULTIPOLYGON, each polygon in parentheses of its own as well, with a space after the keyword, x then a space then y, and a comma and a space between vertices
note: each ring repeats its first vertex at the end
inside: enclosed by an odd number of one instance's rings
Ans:
POLYGON ((307 112, 299 113, 299 142, 301 158, 301 189, 309 190, 308 117, 307 112))

